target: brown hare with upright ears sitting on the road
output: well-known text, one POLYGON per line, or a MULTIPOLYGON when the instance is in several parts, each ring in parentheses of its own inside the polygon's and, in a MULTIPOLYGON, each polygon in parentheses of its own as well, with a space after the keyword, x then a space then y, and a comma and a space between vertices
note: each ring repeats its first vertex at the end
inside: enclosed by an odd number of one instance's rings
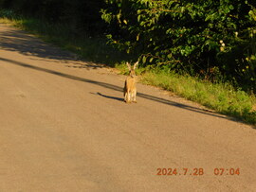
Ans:
POLYGON ((123 96, 124 102, 126 103, 137 103, 136 96, 137 96, 137 80, 136 80, 136 68, 137 68, 138 61, 132 67, 129 62, 126 62, 126 65, 129 69, 129 76, 125 79, 124 88, 123 88, 123 96))

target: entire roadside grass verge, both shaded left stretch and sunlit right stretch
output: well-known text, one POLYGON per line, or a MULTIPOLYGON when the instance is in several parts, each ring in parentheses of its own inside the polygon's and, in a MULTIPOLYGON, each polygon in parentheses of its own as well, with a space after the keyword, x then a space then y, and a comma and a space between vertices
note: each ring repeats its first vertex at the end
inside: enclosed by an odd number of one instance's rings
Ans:
MULTIPOLYGON (((1 16, 1 11, 0 11, 1 16)), ((15 18, 15 17, 14 17, 15 18)), ((17 18, 17 17, 16 17, 17 18)), ((74 34, 69 26, 51 25, 35 19, 0 18, 0 23, 18 26, 51 44, 57 44, 75 52, 87 61, 103 62, 115 66, 120 73, 127 73, 123 53, 106 44, 104 37, 89 37, 86 34, 74 34)), ((137 69, 141 82, 155 85, 176 95, 198 102, 218 113, 228 114, 256 125, 256 98, 244 91, 235 90, 229 83, 211 83, 187 75, 177 75, 158 69, 137 69)))

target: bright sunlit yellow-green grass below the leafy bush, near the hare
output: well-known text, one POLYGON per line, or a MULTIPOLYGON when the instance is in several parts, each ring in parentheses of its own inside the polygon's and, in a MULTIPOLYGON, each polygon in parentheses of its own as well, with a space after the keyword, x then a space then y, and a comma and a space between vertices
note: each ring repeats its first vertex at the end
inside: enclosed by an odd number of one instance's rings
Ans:
MULTIPOLYGON (((117 65, 121 74, 127 73, 125 64, 117 65)), ((218 113, 228 114, 239 120, 256 125, 256 97, 242 90, 235 90, 230 83, 211 83, 188 75, 178 75, 163 70, 140 68, 140 81, 161 87, 198 102, 218 113)))

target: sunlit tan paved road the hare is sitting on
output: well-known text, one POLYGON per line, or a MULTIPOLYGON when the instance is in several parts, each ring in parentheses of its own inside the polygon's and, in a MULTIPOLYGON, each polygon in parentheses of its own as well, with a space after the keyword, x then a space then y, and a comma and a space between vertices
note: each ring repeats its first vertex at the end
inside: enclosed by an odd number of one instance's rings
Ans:
POLYGON ((75 59, 0 25, 0 191, 255 190, 254 128, 75 59))

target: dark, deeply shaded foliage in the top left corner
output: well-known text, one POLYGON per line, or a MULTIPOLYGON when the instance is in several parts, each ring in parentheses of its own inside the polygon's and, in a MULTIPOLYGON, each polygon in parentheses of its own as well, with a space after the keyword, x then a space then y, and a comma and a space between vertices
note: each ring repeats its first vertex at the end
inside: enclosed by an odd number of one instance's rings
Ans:
POLYGON ((73 33, 98 35, 105 29, 100 10, 104 0, 0 0, 0 9, 13 9, 28 17, 69 25, 73 33))

